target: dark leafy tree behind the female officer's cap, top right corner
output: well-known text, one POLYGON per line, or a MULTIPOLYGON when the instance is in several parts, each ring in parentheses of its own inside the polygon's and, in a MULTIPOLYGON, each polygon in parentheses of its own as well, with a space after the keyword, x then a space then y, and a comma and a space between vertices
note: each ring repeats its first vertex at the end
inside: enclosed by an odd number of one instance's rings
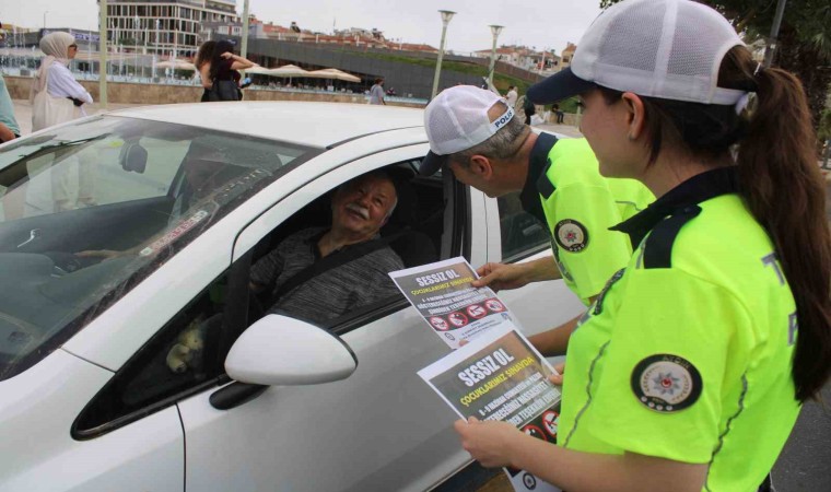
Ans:
MULTIPOLYGON (((600 0, 600 8, 620 0, 600 0)), ((703 0, 730 20, 748 44, 766 39, 773 25, 776 0, 703 0)), ((831 2, 787 0, 773 63, 795 73, 803 82, 815 124, 826 106, 831 85, 831 2)))

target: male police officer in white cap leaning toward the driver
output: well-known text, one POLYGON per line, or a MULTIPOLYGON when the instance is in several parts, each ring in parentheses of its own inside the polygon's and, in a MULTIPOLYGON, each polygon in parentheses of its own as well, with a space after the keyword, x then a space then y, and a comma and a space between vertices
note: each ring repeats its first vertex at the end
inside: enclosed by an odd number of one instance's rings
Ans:
MULTIPOLYGON (((438 94, 426 107, 424 126, 430 153, 421 174, 431 175, 446 165, 458 180, 489 197, 522 190, 523 208, 548 224, 553 236, 555 261, 487 263, 479 268, 482 278, 475 285, 517 289, 562 278, 588 305, 627 265, 632 255, 629 237, 609 227, 645 208, 654 197, 633 179, 600 176, 584 139, 534 133, 514 118, 504 99, 471 85, 438 94)), ((577 319, 530 341, 545 355, 562 354, 577 319)))

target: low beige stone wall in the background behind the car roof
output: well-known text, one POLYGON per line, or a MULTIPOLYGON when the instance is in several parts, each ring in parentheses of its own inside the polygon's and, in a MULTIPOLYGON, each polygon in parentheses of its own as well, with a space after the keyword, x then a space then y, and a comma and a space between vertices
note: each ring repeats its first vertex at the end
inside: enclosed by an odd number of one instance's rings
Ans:
MULTIPOLYGON (((4 77, 5 85, 12 99, 28 99, 32 79, 26 77, 4 77)), ((94 101, 98 101, 97 81, 79 81, 94 101)), ((330 103, 366 102, 363 94, 338 93, 306 93, 285 91, 253 91, 245 90, 246 101, 317 101, 330 103)), ((175 104, 198 103, 202 96, 202 87, 192 85, 161 85, 136 84, 124 82, 107 82, 107 101, 115 104, 175 104)), ((423 107, 423 104, 389 103, 390 106, 423 107)))

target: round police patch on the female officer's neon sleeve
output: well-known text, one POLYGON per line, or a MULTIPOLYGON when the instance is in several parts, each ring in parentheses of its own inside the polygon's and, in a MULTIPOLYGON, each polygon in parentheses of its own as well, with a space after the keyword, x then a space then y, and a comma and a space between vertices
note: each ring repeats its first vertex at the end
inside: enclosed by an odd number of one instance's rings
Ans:
POLYGON ((649 410, 669 413, 698 401, 703 388, 699 370, 687 359, 668 353, 649 355, 632 371, 632 391, 649 410))

